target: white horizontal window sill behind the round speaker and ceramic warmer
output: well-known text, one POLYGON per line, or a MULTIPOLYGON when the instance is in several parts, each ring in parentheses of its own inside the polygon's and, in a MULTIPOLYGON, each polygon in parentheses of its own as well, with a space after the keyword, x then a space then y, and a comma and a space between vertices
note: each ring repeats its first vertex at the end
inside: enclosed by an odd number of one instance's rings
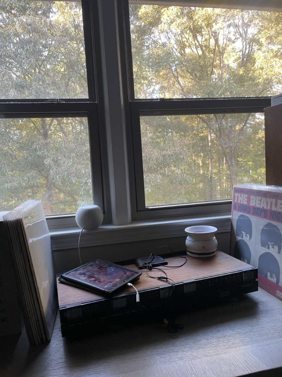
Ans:
MULTIPOLYGON (((230 213, 194 219, 160 219, 138 221, 129 225, 101 225, 94 231, 83 231, 80 247, 145 241, 158 238, 185 236, 185 228, 191 225, 212 225, 217 232, 230 231, 230 213)), ((53 250, 77 248, 79 228, 50 230, 53 250)))

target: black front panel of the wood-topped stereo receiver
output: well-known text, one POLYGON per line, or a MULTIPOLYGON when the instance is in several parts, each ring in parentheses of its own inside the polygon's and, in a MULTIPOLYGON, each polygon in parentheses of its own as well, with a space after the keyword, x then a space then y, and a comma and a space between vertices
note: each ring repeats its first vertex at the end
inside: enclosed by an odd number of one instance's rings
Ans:
MULTIPOLYGON (((229 267, 225 272, 224 268, 218 268, 218 274, 211 271, 208 276, 201 276, 201 271, 199 271, 199 277, 189 279, 187 276, 187 279, 183 279, 182 276, 180 281, 174 278, 174 287, 164 284, 164 282, 157 285, 158 282, 152 279, 151 286, 145 288, 142 288, 142 279, 145 279, 143 273, 144 277, 141 276, 141 279, 136 282, 140 303, 136 303, 134 290, 123 291, 113 297, 102 297, 88 292, 85 299, 82 294, 81 301, 73 302, 71 290, 78 288, 62 287, 62 284, 58 282, 62 336, 81 334, 84 331, 87 333, 99 331, 123 322, 136 323, 148 316, 152 317, 152 314, 165 319, 173 316, 179 310, 194 308, 199 303, 214 302, 223 297, 241 296, 258 290, 257 268, 220 251, 217 251, 217 257, 223 258, 224 261, 226 258, 232 258, 235 261, 233 271, 230 271, 229 267), (238 268, 238 264, 243 268, 238 268), (65 298, 67 289, 70 290, 70 300, 65 303, 66 300, 61 298, 61 293, 62 290, 65 290, 65 298)), ((230 263, 229 259, 227 262, 230 263)))

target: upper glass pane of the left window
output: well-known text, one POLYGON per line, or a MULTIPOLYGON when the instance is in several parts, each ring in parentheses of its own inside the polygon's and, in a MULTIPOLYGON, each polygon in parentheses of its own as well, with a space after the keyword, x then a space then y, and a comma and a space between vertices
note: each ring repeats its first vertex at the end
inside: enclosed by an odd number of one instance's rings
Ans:
POLYGON ((0 0, 0 98, 88 98, 81 2, 0 0))

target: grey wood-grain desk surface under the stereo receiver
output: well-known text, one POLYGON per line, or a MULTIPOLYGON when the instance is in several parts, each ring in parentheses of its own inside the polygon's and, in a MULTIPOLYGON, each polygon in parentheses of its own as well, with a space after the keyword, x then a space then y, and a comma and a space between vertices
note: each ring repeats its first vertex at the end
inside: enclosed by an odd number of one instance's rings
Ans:
POLYGON ((242 300, 191 310, 168 333, 150 322, 83 339, 62 338, 57 316, 52 340, 29 346, 25 332, 0 338, 2 377, 230 377, 282 375, 282 301, 259 288, 242 300), (267 371, 267 369, 274 369, 267 371), (264 371, 259 373, 259 371, 264 371), (258 373, 256 373, 258 372, 258 373))

